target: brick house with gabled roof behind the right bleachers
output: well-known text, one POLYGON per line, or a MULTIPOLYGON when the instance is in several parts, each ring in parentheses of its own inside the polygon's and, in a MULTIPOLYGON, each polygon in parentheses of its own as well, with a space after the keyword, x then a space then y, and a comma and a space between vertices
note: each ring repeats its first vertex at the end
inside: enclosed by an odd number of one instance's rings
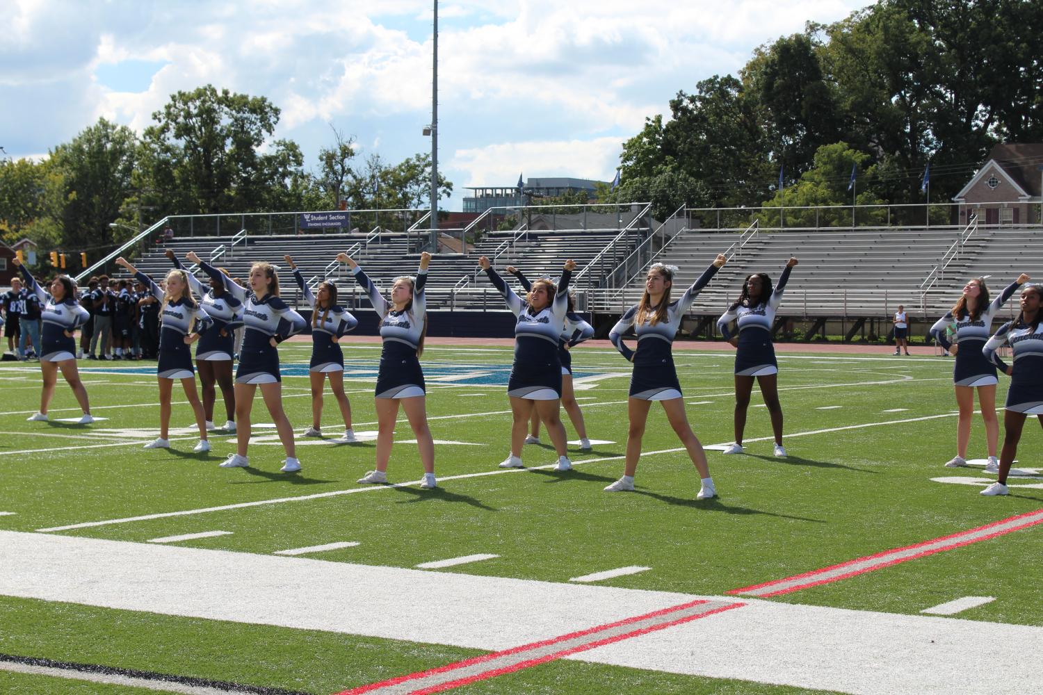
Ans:
POLYGON ((994 146, 978 173, 952 198, 960 203, 961 224, 974 214, 978 224, 1040 224, 1041 177, 1043 143, 994 146))

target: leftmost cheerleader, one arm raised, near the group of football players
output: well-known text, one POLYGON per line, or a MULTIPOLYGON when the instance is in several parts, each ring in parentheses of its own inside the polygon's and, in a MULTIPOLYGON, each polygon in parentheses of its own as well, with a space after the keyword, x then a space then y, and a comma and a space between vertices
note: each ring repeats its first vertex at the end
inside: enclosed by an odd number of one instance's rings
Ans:
POLYGON ((87 389, 83 388, 76 369, 76 339, 73 334, 78 326, 87 323, 90 315, 76 301, 76 284, 68 275, 56 275, 51 281, 51 295, 48 298, 47 293, 18 256, 11 258, 11 263, 18 267, 29 291, 40 299, 43 306, 41 319, 44 322, 44 329, 38 350, 44 388, 40 392, 40 412, 28 420, 47 422, 47 406, 54 396, 54 383, 57 381, 58 370, 62 370, 62 376, 72 389, 76 402, 83 411, 78 422, 81 425, 89 425, 94 422, 94 418, 91 417, 87 389))

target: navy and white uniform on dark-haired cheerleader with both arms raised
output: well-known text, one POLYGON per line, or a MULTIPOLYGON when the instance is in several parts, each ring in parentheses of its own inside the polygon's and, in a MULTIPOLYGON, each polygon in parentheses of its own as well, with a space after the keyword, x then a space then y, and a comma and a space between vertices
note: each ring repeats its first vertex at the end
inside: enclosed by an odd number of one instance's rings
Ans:
POLYGON ((554 299, 538 312, 514 294, 491 266, 485 273, 517 317, 514 324, 514 364, 507 381, 507 395, 528 400, 561 398, 561 357, 558 346, 559 338, 565 329, 565 314, 568 313, 568 280, 572 272, 561 272, 554 299))

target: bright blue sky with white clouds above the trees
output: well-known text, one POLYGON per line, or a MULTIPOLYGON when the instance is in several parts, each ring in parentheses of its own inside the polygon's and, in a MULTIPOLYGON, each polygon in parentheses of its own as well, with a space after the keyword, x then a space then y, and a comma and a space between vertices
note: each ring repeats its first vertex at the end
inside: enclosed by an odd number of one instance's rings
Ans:
MULTIPOLYGON (((622 145, 678 91, 736 74, 754 48, 869 0, 443 0, 439 171, 610 181, 622 145)), ((361 159, 431 151, 433 2, 4 0, 0 146, 40 157, 104 117, 137 131, 178 90, 267 97, 275 138, 316 167, 334 129, 361 159)))

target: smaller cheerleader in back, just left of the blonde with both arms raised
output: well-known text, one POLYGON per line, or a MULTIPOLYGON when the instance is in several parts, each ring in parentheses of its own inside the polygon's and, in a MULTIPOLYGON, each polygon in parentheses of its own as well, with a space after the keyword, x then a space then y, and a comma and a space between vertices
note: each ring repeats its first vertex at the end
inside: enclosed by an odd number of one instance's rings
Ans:
POLYGON ((321 282, 316 297, 305 282, 305 276, 300 274, 293 258, 288 255, 283 258, 293 270, 293 278, 308 305, 312 307, 312 362, 308 368, 308 378, 312 386, 312 426, 305 431, 305 437, 322 437, 322 382, 330 377, 330 390, 333 391, 344 418, 344 436, 337 442, 354 442, 351 404, 344 394, 344 353, 338 341, 344 333, 354 330, 359 322, 337 304, 336 284, 331 280, 321 282))

